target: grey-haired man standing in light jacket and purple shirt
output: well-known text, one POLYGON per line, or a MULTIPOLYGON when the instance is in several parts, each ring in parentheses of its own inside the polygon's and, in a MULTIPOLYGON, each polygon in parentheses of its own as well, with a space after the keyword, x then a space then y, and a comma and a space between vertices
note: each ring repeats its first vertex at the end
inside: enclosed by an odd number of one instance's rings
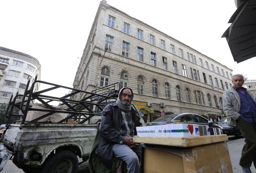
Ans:
POLYGON ((244 84, 242 75, 234 75, 232 83, 234 86, 223 94, 223 110, 228 116, 228 127, 238 126, 245 138, 239 164, 243 173, 251 173, 252 162, 256 168, 256 98, 242 87, 244 84))

